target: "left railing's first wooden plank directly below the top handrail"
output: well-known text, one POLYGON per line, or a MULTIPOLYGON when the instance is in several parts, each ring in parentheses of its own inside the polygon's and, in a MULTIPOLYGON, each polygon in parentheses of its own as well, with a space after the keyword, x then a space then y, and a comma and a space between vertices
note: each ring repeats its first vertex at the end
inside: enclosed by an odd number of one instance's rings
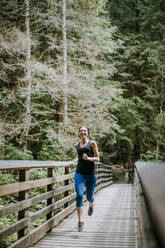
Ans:
POLYGON ((12 193, 17 193, 20 191, 33 189, 33 188, 37 188, 41 186, 46 186, 48 184, 62 182, 64 180, 71 179, 73 177, 74 177, 74 173, 71 173, 68 175, 61 175, 58 177, 44 178, 44 179, 39 179, 39 180, 3 185, 3 186, 0 186, 0 196, 9 195, 12 193))

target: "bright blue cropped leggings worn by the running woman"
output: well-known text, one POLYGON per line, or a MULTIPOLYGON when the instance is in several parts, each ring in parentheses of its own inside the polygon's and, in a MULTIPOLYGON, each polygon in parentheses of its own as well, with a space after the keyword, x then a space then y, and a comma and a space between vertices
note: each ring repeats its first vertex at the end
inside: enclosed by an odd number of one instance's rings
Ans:
POLYGON ((83 175, 76 172, 74 176, 76 189, 76 206, 83 206, 84 186, 86 186, 86 197, 89 202, 93 202, 93 193, 96 186, 96 175, 83 175))

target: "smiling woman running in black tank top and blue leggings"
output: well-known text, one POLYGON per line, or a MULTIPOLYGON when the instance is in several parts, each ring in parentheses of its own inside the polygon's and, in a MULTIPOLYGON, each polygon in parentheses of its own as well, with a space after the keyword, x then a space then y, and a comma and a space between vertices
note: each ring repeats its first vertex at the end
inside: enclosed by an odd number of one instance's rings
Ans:
POLYGON ((80 142, 75 145, 77 165, 75 173, 75 189, 76 189, 76 207, 78 215, 78 231, 82 231, 84 228, 84 222, 82 221, 82 206, 84 185, 86 186, 86 197, 89 201, 88 215, 93 214, 94 198, 93 193, 96 185, 96 172, 95 163, 99 162, 99 151, 95 141, 89 140, 89 129, 85 126, 79 128, 80 142))

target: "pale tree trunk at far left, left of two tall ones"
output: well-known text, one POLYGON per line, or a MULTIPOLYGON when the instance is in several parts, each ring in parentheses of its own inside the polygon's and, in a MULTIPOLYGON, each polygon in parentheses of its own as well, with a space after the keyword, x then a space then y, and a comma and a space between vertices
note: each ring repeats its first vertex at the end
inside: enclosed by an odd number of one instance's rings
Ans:
POLYGON ((31 44, 30 44, 30 17, 29 0, 25 0, 25 25, 26 25, 26 113, 24 120, 24 150, 27 149, 27 136, 31 125, 31 44))

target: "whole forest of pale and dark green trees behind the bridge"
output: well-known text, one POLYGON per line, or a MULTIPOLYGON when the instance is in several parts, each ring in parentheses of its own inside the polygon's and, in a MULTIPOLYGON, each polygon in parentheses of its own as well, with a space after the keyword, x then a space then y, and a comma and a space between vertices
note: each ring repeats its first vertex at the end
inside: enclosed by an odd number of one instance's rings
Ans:
POLYGON ((1 0, 0 159, 165 159, 165 1, 1 0))

